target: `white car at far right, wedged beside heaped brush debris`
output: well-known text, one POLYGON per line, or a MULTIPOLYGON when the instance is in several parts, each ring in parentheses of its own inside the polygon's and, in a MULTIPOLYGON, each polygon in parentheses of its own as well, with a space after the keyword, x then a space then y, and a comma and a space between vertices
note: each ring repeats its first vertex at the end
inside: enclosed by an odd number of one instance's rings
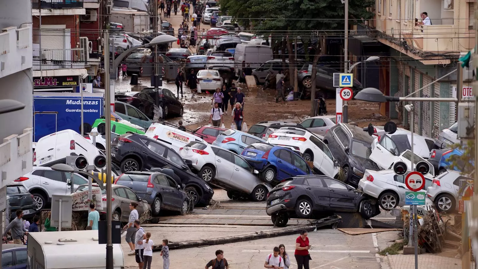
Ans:
MULTIPOLYGON (((458 171, 448 169, 436 176, 433 179, 433 184, 426 189, 426 195, 435 203, 439 211, 450 213, 458 207, 460 179, 473 181, 473 179, 462 176, 458 171)), ((464 192, 466 191, 471 191, 471 195, 473 195, 473 189, 467 188, 464 192)))

